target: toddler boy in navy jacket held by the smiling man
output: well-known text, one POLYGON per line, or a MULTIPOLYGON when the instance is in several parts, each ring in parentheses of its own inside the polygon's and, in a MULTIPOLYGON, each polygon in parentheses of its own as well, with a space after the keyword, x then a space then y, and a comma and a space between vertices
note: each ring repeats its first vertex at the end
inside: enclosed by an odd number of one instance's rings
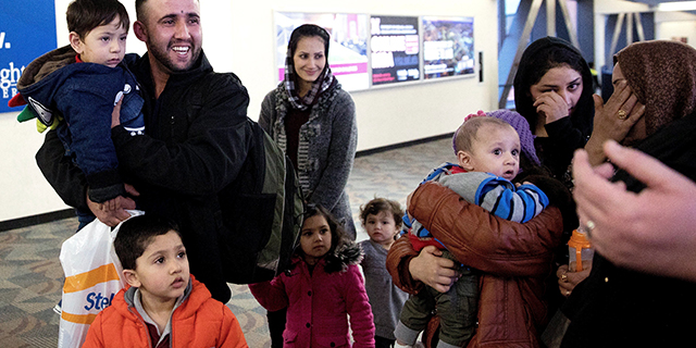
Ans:
MULTIPOLYGON (((103 210, 121 208, 126 191, 111 141, 111 115, 121 100, 121 124, 145 134, 144 100, 123 64, 130 21, 119 0, 74 0, 66 11, 70 45, 35 59, 24 70, 9 104, 27 104, 17 117, 36 117, 39 132, 55 128, 89 184, 88 197, 103 210)), ((80 227, 94 219, 77 211, 80 227)))

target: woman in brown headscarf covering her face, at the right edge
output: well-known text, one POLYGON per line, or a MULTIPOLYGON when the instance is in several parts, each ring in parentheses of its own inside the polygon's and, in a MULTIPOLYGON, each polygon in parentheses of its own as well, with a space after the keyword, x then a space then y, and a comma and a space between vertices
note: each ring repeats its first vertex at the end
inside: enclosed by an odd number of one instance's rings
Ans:
MULTIPOLYGON (((696 181, 696 50, 678 41, 637 42, 617 53, 614 63, 614 95, 627 90, 637 102, 627 100, 611 108, 608 102, 602 116, 633 123, 630 119, 642 114, 622 142, 696 181)), ((645 188, 622 170, 612 181, 623 182, 633 192, 645 188)), ((586 208, 583 204, 579 210, 585 228, 599 231, 600 226, 587 220, 586 208)), ((614 219, 624 216, 616 214, 614 219)), ((622 220, 621 224, 633 223, 622 220)), ((670 232, 655 228, 651 233, 670 232)), ((683 346, 693 341, 694 294, 696 283, 617 265, 598 249, 589 276, 575 287, 563 308, 571 324, 562 347, 683 346)))

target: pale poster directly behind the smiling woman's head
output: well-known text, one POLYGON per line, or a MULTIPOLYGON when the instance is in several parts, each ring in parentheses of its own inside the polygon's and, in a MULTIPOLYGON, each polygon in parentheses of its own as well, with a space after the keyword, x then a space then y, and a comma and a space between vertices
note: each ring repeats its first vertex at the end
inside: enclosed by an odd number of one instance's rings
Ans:
POLYGON ((275 12, 277 82, 285 78, 287 44, 298 26, 316 24, 331 36, 328 65, 346 90, 370 87, 368 74, 368 15, 355 13, 275 12))

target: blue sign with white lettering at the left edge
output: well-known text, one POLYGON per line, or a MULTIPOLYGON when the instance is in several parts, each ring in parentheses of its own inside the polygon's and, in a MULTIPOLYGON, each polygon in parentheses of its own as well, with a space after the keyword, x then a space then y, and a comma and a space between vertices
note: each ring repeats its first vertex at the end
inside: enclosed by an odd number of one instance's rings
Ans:
POLYGON ((53 0, 25 0, 0 5, 0 113, 17 94, 17 80, 34 59, 55 49, 53 0))

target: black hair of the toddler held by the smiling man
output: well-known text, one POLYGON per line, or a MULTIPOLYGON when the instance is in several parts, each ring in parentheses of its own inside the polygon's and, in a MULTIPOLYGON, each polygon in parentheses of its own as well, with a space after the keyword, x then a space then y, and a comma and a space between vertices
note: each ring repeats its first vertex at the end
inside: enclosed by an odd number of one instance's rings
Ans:
POLYGON ((111 23, 116 16, 127 33, 130 18, 119 0, 74 0, 65 12, 67 30, 77 33, 83 40, 94 28, 111 23))

